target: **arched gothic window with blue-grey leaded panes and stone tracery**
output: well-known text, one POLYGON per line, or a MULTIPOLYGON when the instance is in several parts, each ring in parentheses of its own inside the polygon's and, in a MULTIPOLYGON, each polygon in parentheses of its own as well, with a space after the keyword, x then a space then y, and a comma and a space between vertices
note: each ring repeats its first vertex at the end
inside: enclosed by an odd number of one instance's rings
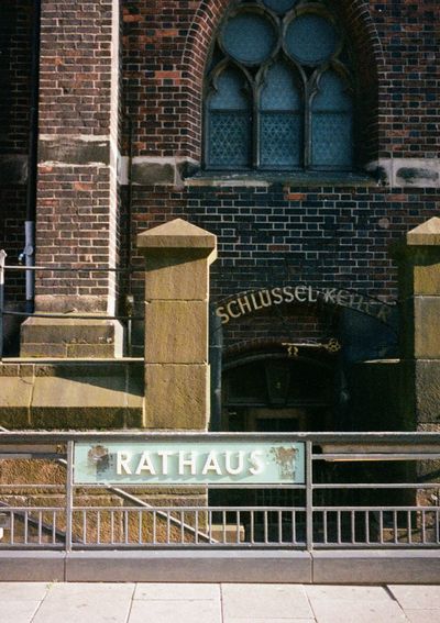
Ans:
POLYGON ((352 82, 327 1, 235 3, 206 76, 206 168, 351 170, 352 82))

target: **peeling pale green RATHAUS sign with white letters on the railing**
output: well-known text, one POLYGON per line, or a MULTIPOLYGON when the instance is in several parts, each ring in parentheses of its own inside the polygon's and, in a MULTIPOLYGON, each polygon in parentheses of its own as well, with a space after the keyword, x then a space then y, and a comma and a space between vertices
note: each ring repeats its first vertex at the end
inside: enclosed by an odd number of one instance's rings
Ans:
POLYGON ((292 485, 305 482, 304 443, 76 443, 77 485, 292 485))

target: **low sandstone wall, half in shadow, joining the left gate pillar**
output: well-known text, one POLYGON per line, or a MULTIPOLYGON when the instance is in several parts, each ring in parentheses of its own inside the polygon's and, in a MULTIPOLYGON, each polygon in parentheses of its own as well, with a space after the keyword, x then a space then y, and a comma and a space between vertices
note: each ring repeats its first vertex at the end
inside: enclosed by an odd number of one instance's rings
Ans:
POLYGON ((0 365, 0 424, 14 429, 142 426, 142 361, 0 365))

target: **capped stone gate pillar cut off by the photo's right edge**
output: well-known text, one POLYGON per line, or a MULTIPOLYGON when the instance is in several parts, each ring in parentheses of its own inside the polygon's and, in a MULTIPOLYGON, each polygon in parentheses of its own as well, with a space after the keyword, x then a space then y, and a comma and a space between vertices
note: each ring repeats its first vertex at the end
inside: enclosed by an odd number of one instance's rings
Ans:
POLYGON ((440 219, 399 247, 403 413, 407 429, 440 430, 440 219))

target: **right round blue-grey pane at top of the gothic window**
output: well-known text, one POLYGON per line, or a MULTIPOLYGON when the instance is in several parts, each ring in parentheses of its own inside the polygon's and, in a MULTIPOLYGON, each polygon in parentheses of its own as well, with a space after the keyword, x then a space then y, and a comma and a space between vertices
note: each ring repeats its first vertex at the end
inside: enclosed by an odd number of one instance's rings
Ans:
POLYGON ((334 54, 338 33, 320 15, 300 15, 290 22, 286 32, 286 47, 300 63, 318 65, 334 54))

